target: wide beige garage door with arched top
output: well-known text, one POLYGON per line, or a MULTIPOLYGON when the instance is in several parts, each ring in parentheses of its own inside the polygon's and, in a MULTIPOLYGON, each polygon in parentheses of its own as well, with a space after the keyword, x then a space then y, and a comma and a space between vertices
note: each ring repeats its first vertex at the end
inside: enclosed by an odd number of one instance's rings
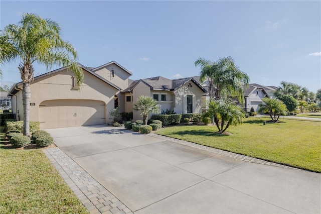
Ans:
POLYGON ((105 124, 105 104, 87 99, 43 101, 39 121, 42 129, 105 124))

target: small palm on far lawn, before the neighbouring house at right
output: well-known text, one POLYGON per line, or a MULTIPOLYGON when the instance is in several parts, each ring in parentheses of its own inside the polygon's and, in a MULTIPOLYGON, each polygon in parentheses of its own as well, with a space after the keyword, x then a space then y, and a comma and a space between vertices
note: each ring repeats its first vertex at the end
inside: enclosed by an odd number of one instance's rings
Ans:
POLYGON ((259 104, 258 113, 268 113, 272 122, 279 120, 280 115, 286 115, 286 105, 277 98, 264 97, 263 103, 259 104))

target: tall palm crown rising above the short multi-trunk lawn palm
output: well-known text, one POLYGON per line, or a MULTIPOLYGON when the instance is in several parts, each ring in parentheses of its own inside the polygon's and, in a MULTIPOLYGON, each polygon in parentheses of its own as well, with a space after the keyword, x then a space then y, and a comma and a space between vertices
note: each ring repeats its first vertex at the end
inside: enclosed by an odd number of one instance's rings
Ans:
POLYGON ((236 96, 240 101, 244 100, 243 85, 248 85, 250 78, 234 64, 232 57, 220 58, 216 62, 199 58, 195 66, 201 68, 201 82, 209 82, 211 100, 219 100, 222 96, 236 96))

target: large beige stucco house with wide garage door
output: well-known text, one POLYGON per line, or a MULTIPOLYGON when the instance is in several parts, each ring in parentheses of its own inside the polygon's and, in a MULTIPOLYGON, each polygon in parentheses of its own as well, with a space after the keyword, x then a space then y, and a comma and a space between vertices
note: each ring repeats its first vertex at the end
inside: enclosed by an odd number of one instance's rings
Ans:
MULTIPOLYGON (((30 120, 42 129, 109 124, 109 112, 133 112, 140 95, 154 97, 161 109, 181 113, 201 113, 205 108, 206 89, 193 77, 170 80, 161 76, 131 80, 132 73, 115 61, 96 68, 79 64, 84 83, 79 89, 75 75, 66 67, 35 77, 30 84, 30 120)), ((23 82, 13 85, 12 112, 23 120, 23 82)), ((133 112, 133 119, 140 119, 133 112)))

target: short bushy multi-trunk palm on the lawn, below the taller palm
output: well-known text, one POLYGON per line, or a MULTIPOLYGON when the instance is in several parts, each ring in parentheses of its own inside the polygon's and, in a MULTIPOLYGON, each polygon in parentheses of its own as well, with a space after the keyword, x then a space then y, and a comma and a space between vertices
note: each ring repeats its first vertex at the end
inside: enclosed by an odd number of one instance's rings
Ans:
POLYGON ((214 123, 220 134, 224 133, 229 126, 242 124, 245 117, 240 106, 231 99, 210 100, 208 114, 214 118, 214 123))

